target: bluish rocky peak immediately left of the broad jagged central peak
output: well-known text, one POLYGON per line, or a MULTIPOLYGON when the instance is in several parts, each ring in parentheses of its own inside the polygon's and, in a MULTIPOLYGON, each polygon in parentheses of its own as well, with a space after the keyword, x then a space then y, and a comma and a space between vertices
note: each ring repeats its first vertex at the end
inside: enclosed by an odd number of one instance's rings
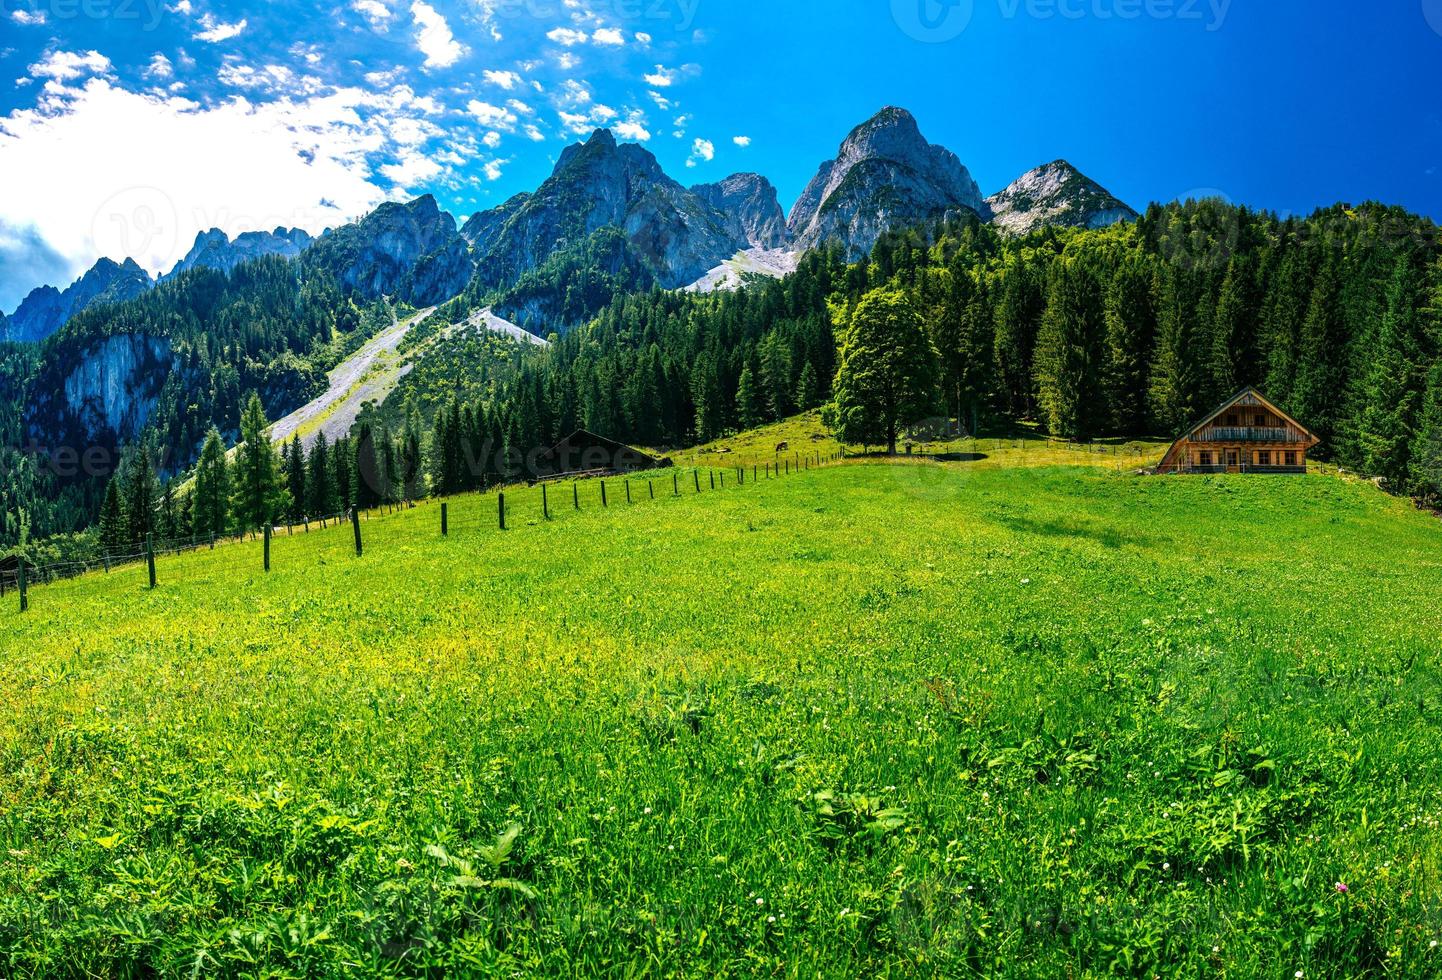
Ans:
MULTIPOLYGON (((343 287, 366 300, 382 295, 411 298, 415 265, 441 254, 438 265, 451 271, 454 257, 450 249, 456 248, 456 242, 464 245, 456 231, 456 219, 425 195, 404 205, 386 202, 360 220, 326 232, 306 249, 304 261, 329 270, 343 287)), ((453 284, 443 280, 444 275, 431 271, 420 291, 453 284)), ((464 285, 466 280, 461 280, 454 293, 464 285)))

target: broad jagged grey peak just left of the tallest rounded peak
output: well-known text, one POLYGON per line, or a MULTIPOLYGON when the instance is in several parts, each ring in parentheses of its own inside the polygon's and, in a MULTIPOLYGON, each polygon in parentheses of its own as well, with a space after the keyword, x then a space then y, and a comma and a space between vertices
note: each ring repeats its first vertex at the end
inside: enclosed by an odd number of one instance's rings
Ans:
POLYGON ((551 177, 485 235, 492 245, 483 274, 496 282, 515 278, 607 226, 622 229, 666 288, 694 282, 744 246, 725 216, 668 177, 647 150, 597 130, 567 147, 551 177))

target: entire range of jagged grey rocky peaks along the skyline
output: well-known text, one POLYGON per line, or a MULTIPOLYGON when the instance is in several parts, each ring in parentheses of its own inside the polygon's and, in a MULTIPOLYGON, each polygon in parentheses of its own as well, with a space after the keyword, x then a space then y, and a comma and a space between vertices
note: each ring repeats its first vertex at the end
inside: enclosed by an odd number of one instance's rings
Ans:
MULTIPOLYGON (((784 274, 808 249, 839 244, 857 259, 888 231, 949 218, 1027 233, 1135 216, 1063 160, 982 197, 955 153, 927 143, 910 112, 888 107, 846 135, 789 213, 760 174, 685 187, 645 147, 597 130, 567 147, 534 193, 464 223, 427 195, 384 203, 316 239, 300 229, 234 239, 211 229, 162 280, 195 268, 229 271, 267 255, 298 258, 365 300, 388 295, 421 307, 472 291, 499 314, 545 333, 604 306, 607 290, 734 287, 748 274, 784 274)), ((0 317, 0 340, 43 340, 82 310, 154 284, 134 261, 102 258, 65 290, 32 291, 0 317)))

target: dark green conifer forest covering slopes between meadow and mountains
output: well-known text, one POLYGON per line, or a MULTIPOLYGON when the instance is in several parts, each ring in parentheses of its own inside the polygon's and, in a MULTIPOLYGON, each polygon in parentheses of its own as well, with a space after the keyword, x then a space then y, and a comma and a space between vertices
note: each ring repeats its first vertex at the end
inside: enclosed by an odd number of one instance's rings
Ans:
MULTIPOLYGON (((278 447, 281 486, 241 500, 216 490, 228 484, 213 470, 242 435, 248 393, 294 404, 278 383, 311 383, 327 355, 389 316, 296 264, 262 259, 229 277, 182 278, 95 318, 114 333, 170 317, 186 370, 167 382, 110 493, 104 483, 69 489, 69 509, 49 512, 43 530, 98 523, 105 548, 121 549, 137 526, 192 533, 202 512, 209 533, 454 493, 523 477, 526 454, 583 427, 681 448, 823 406, 848 441, 885 447, 895 427, 878 414, 891 409, 864 391, 878 372, 904 375, 887 378, 906 393, 891 411, 903 427, 1027 424, 1067 440, 1169 437, 1256 385, 1324 440, 1319 457, 1436 504, 1439 255, 1429 220, 1379 205, 1280 219, 1204 200, 1154 205, 1099 231, 1009 238, 955 222, 893 233, 868 261, 818 249, 786 280, 734 293, 617 293, 544 352, 441 340, 427 355, 435 370, 423 368, 348 440, 309 454, 298 441, 278 447), (195 392, 187 379, 200 379, 195 392), (209 477, 177 497, 173 484, 206 457, 209 477), (205 506, 190 499, 202 494, 205 506)), ((461 297, 443 313, 459 320, 469 306, 461 297)), ((85 327, 53 343, 78 344, 85 327)), ((9 392, 23 391, 16 378, 43 375, 36 359, 33 349, 3 357, 9 392)), ((248 421, 254 432, 254 411, 248 421)), ((12 513, 53 491, 25 467, 6 480, 12 513)), ((6 540, 20 533, 7 526, 6 540)))

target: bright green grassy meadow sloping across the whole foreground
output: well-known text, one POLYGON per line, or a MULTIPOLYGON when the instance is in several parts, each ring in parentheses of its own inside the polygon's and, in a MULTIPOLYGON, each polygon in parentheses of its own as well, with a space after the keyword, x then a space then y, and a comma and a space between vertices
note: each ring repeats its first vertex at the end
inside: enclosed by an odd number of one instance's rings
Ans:
POLYGON ((1442 974, 1436 520, 662 478, 7 607, 0 974, 1442 974))

